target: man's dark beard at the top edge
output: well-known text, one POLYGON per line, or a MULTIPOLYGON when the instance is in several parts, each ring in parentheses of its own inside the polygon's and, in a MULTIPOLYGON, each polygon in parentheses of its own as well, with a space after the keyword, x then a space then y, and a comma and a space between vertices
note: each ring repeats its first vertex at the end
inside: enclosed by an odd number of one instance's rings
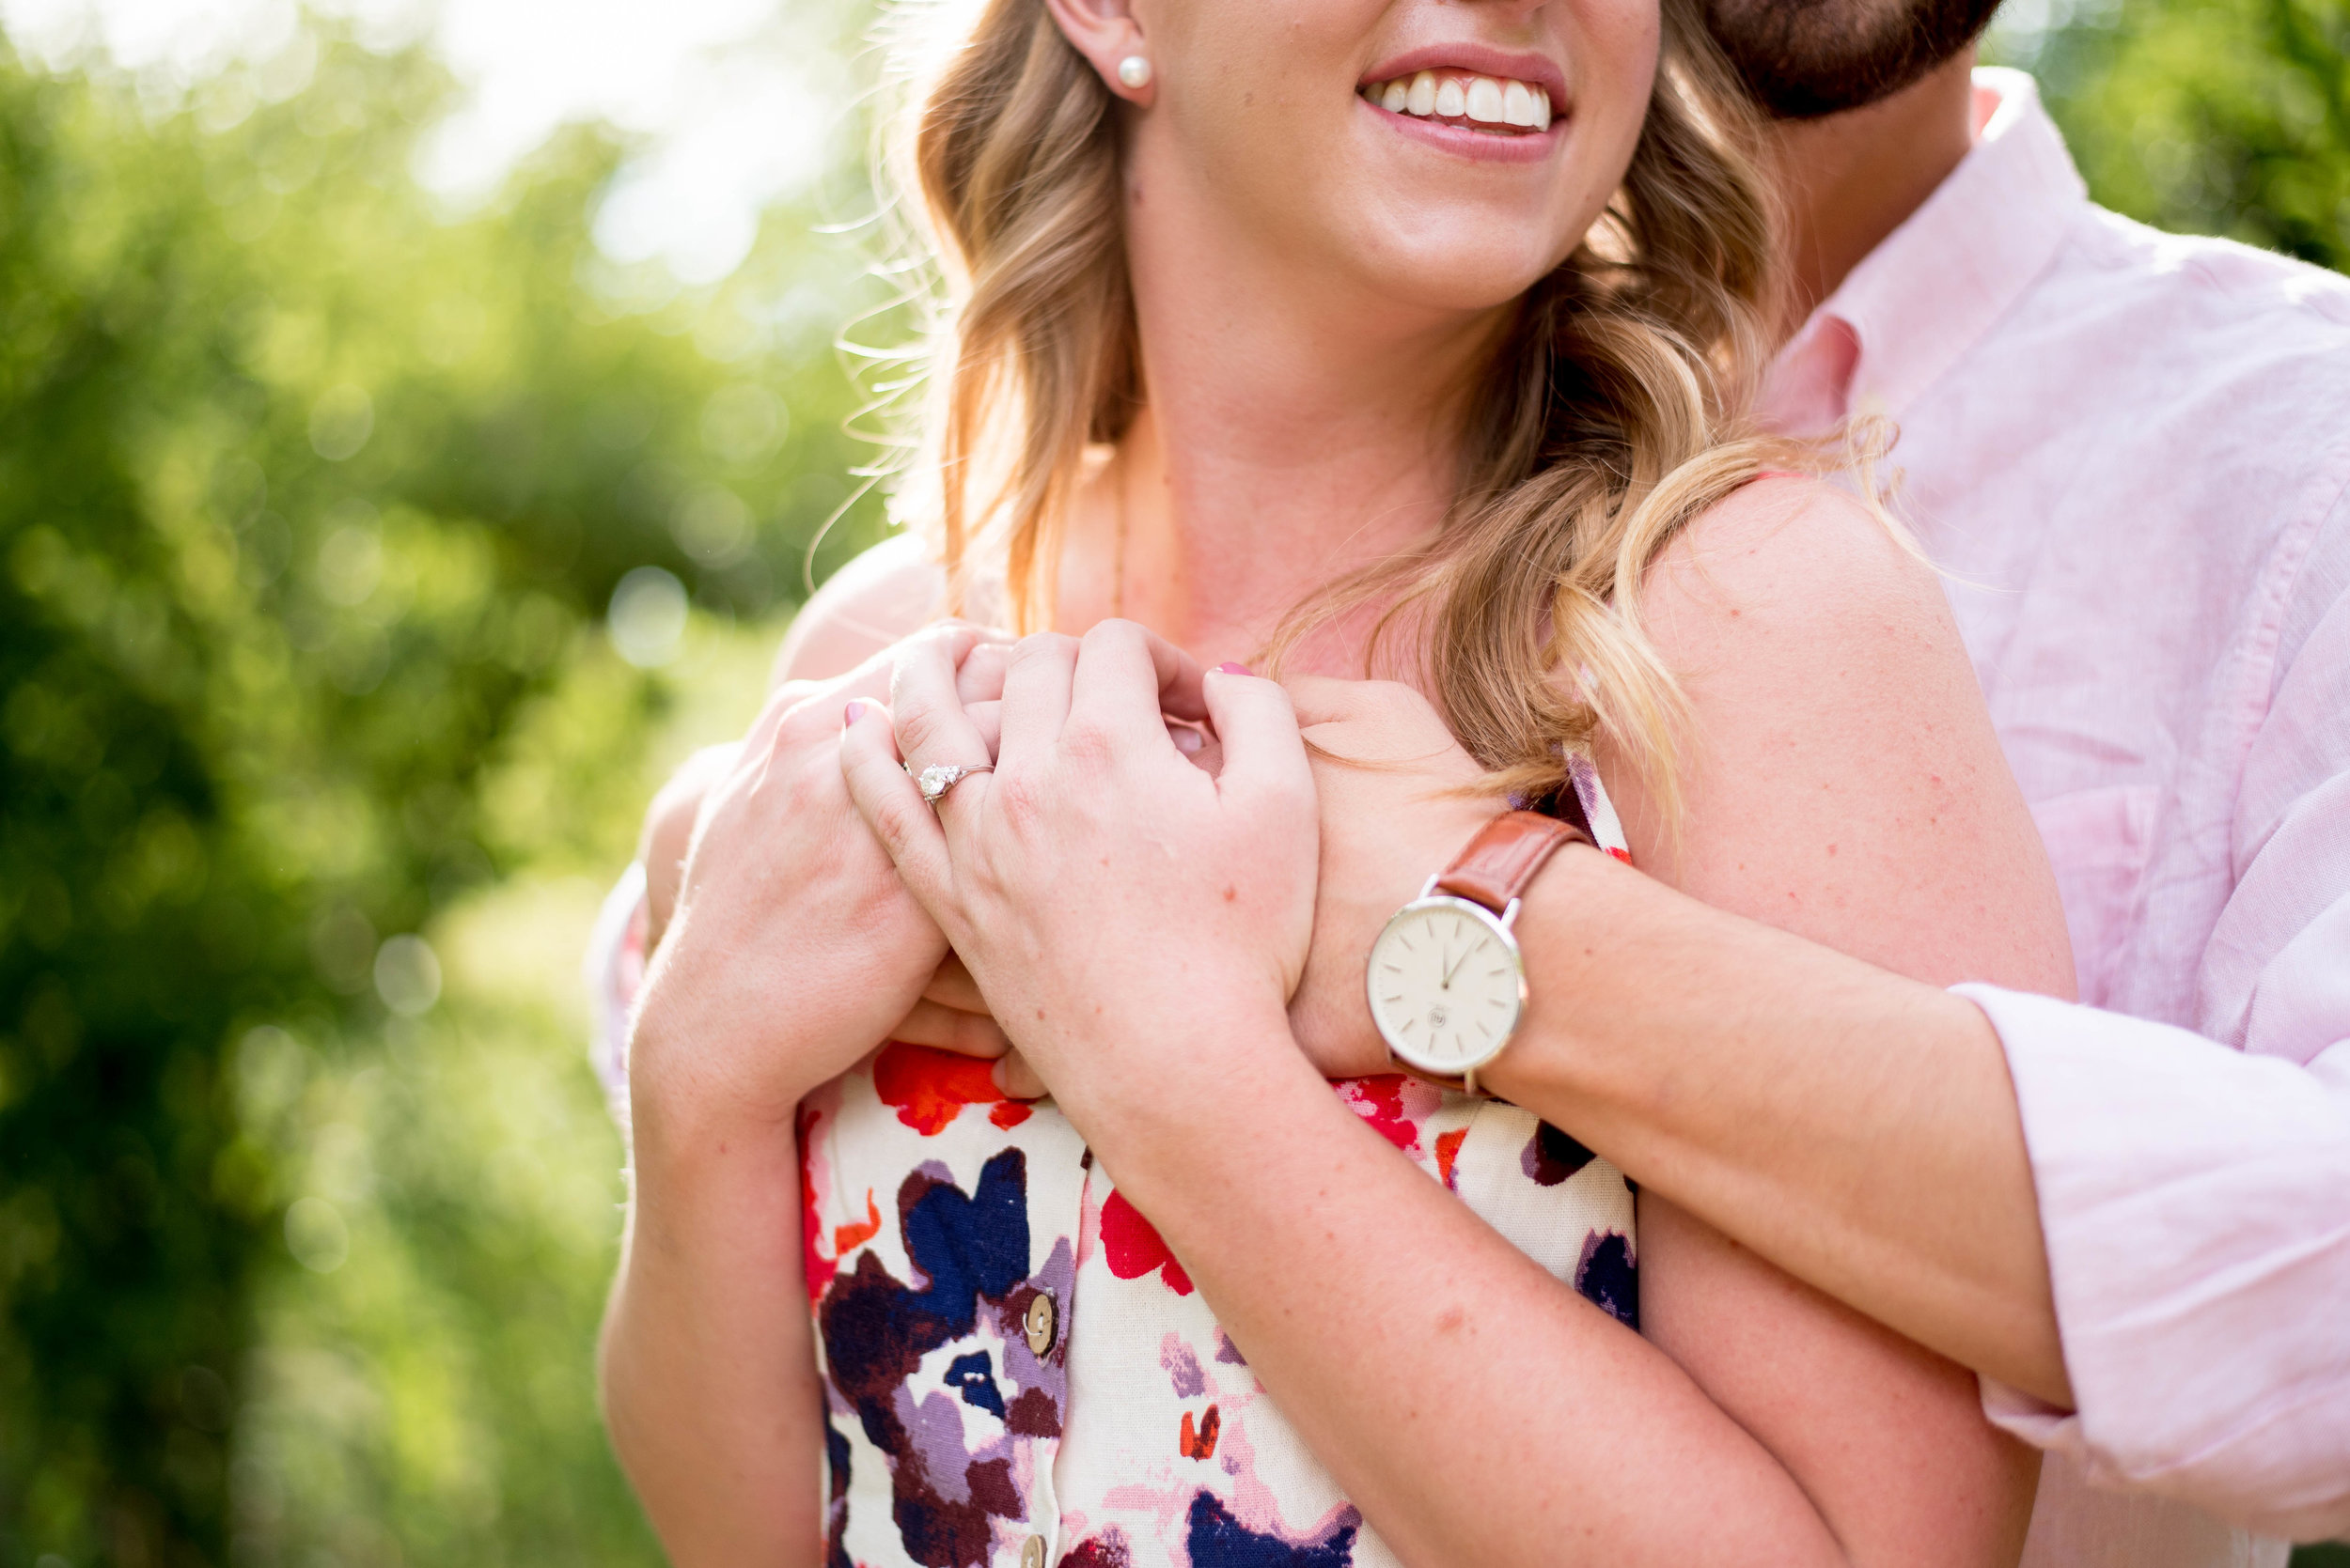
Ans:
POLYGON ((1706 23, 1774 120, 1887 99, 1974 42, 2000 0, 1706 0, 1706 23))

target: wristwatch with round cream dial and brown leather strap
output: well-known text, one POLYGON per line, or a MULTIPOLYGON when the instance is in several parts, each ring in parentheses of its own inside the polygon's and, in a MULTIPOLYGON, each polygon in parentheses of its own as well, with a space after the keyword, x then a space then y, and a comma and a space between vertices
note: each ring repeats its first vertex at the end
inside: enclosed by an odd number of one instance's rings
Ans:
POLYGON ((1518 894, 1563 845, 1591 833, 1539 812, 1502 812, 1370 944, 1365 988, 1386 1049, 1419 1077, 1476 1094, 1478 1068, 1525 1012, 1518 894))

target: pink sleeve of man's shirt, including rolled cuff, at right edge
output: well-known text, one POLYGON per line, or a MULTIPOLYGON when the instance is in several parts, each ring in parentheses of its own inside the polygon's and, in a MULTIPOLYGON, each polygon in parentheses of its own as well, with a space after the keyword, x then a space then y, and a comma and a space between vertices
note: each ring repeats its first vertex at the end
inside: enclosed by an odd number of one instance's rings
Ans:
POLYGON ((1986 1380, 1986 1413, 2096 1481, 2301 1540, 2350 1535, 2345 563, 2284 620, 2197 1028, 1958 988, 2007 1049, 2080 1406, 1986 1380))

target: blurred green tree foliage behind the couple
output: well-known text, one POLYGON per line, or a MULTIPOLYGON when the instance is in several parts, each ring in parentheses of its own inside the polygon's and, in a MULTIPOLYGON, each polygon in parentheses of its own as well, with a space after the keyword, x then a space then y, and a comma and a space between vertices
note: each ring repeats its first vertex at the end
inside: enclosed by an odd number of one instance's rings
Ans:
MULTIPOLYGON (((2338 268, 2345 26, 2014 0, 1990 52, 2108 204, 2338 268)), ((176 96, 0 40, 0 1568, 658 1561, 576 967, 877 538, 811 561, 870 195, 848 127, 679 289, 595 249, 599 127, 442 211, 451 103, 324 21, 176 96)))

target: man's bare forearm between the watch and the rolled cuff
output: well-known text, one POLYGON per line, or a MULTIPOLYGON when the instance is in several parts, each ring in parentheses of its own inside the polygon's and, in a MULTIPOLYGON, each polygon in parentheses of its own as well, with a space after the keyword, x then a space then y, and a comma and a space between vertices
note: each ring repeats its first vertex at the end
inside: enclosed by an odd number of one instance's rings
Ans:
POLYGON ((2070 1404, 2023 1124, 1976 1007, 1563 854, 1483 1075, 1786 1272, 2070 1404))

